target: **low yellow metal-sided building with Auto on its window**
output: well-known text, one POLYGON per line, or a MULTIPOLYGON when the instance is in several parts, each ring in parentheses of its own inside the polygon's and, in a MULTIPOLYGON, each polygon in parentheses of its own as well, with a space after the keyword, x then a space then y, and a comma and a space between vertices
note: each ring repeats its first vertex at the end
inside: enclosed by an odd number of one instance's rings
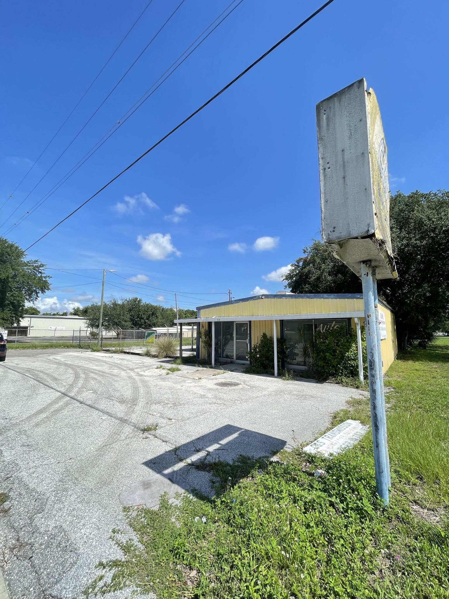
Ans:
MULTIPOLYGON (((286 368, 304 368, 302 339, 314 331, 326 331, 334 327, 357 329, 364 323, 362 294, 290 294, 233 299, 197 308, 196 319, 180 319, 175 322, 196 323, 207 327, 213 335, 213 364, 239 362, 248 364, 248 350, 260 341, 265 332, 268 337, 287 340, 286 368)), ((392 309, 379 301, 381 320, 381 349, 385 372, 398 353, 395 315, 392 309)), ((207 358, 200 335, 196 336, 197 358, 207 358)), ((276 344, 275 344, 276 351, 276 344)), ((284 367, 284 365, 283 365, 284 367)), ((275 373, 277 364, 275 364, 275 373)))

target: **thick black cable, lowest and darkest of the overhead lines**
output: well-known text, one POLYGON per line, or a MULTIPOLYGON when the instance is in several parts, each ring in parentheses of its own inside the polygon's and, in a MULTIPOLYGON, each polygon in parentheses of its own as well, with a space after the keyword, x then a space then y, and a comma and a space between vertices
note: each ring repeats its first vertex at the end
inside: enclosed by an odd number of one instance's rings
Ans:
POLYGON ((252 69, 254 66, 256 66, 261 60, 263 60, 264 58, 266 58, 266 56, 268 56, 269 54, 271 54, 271 52, 273 52, 273 50, 277 49, 278 46, 280 46, 281 44, 283 44, 284 41, 288 40, 293 34, 296 33, 296 31, 298 31, 299 29, 301 29, 302 27, 304 27, 304 25, 306 25, 306 23, 308 23, 315 16, 317 16, 317 14, 321 13, 321 11, 323 11, 324 8, 328 7, 329 4, 332 4, 332 2, 333 2, 333 0, 327 0, 327 2, 325 4, 323 4, 320 8, 318 8, 318 10, 316 10, 313 14, 311 14, 310 16, 308 16, 307 19, 305 19, 302 23, 299 23, 299 25, 296 26, 295 29, 292 29, 292 31, 290 31, 286 36, 284 36, 276 44, 274 44, 274 46, 272 46, 269 50, 267 50, 262 56, 259 56, 259 58, 257 60, 254 60, 254 62, 251 63, 250 66, 247 66, 247 68, 245 68, 244 71, 242 71, 239 75, 237 75, 237 77, 235 77, 225 87, 223 87, 219 92, 217 92, 214 96, 212 96, 212 98, 208 99, 207 102, 205 102, 199 108, 197 108, 192 114, 190 114, 190 116, 188 116, 181 123, 179 123, 179 125, 175 126, 174 129, 172 129, 171 131, 169 131, 166 135, 164 135, 162 138, 160 138, 159 141, 157 141, 155 144, 153 144, 153 146, 151 146, 150 148, 148 148, 148 150, 146 152, 144 152, 141 156, 139 156, 139 158, 136 158, 134 162, 132 162, 131 164, 128 165, 128 167, 124 168, 123 171, 121 171, 113 179, 111 179, 110 181, 108 181, 108 183, 106 183, 103 187, 101 187, 101 189, 99 189, 93 195, 91 195, 90 198, 86 199, 86 201, 83 202, 83 204, 80 204, 78 206, 78 208, 75 208, 75 210, 73 210, 65 218, 63 218, 62 220, 60 220, 59 223, 57 223, 56 225, 54 225, 54 227, 52 227, 51 229, 49 229, 49 231, 47 231, 46 233, 44 233, 44 235, 41 235, 40 238, 38 238, 36 241, 34 241, 34 243, 31 244, 31 246, 28 246, 25 249, 25 252, 27 250, 29 250, 31 247, 33 247, 35 244, 37 244, 38 241, 41 241, 49 233, 51 233, 52 231, 54 231, 54 229, 56 229, 59 225, 61 225, 63 222, 65 222, 65 220, 67 220, 71 216, 73 216, 78 210, 80 210, 80 208, 82 208, 83 206, 85 206, 87 204, 87 202, 90 202, 91 199, 95 198, 96 195, 98 195, 99 193, 101 193, 104 189, 106 189, 106 187, 108 187, 116 179, 119 179, 119 177, 121 177, 123 175, 123 173, 126 173, 126 171, 128 171, 130 168, 134 167, 134 165, 137 162, 139 162, 142 158, 144 158, 144 156, 146 156, 148 153, 150 153, 151 150, 154 150, 154 148, 156 148, 157 146, 159 146, 163 141, 166 140, 166 138, 168 138, 170 135, 174 134, 175 131, 177 131, 183 125, 185 125, 185 123, 187 123, 190 119, 192 119, 194 116, 196 116, 196 114, 198 114, 199 112, 201 112, 201 110, 203 110, 203 108, 207 107, 211 102, 214 101, 214 99, 218 98, 223 92, 225 92, 227 89, 229 89, 230 86, 232 86, 234 83, 236 83, 236 81, 238 81, 241 77, 243 77, 243 75, 245 75, 248 71, 250 71, 250 69, 252 69))

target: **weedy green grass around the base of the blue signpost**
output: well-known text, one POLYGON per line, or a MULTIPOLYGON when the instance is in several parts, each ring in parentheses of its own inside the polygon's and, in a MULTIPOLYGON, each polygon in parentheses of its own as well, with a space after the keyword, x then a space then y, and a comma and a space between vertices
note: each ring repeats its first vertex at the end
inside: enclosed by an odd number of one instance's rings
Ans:
MULTIPOLYGON (((165 497, 157 511, 126 510, 136 540, 114 531, 122 559, 99 564, 85 594, 447 599, 448 377, 449 340, 441 338, 388 372, 389 508, 375 492, 371 434, 333 459, 298 447, 275 463, 203 461, 197 467, 211 473, 216 498, 187 495, 172 506, 165 497)), ((353 400, 333 424, 346 418, 367 422, 368 401, 353 400)))

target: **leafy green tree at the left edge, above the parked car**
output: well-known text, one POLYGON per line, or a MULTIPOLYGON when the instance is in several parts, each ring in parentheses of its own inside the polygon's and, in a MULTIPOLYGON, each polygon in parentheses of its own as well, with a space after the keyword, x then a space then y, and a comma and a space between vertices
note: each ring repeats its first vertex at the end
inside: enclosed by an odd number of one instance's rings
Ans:
POLYGON ((25 304, 50 289, 45 264, 25 258, 17 244, 0 237, 0 326, 18 325, 25 304))

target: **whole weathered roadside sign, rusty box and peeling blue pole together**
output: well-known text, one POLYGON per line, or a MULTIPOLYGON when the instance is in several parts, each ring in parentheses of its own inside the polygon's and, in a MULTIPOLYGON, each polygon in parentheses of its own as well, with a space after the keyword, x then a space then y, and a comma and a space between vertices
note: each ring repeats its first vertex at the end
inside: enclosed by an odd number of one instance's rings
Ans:
MULTIPOLYGON (((387 146, 376 96, 360 79, 317 104, 321 237, 362 279, 377 492, 389 503, 377 279, 395 279, 387 146)), ((384 314, 383 316, 384 321, 384 314)))

